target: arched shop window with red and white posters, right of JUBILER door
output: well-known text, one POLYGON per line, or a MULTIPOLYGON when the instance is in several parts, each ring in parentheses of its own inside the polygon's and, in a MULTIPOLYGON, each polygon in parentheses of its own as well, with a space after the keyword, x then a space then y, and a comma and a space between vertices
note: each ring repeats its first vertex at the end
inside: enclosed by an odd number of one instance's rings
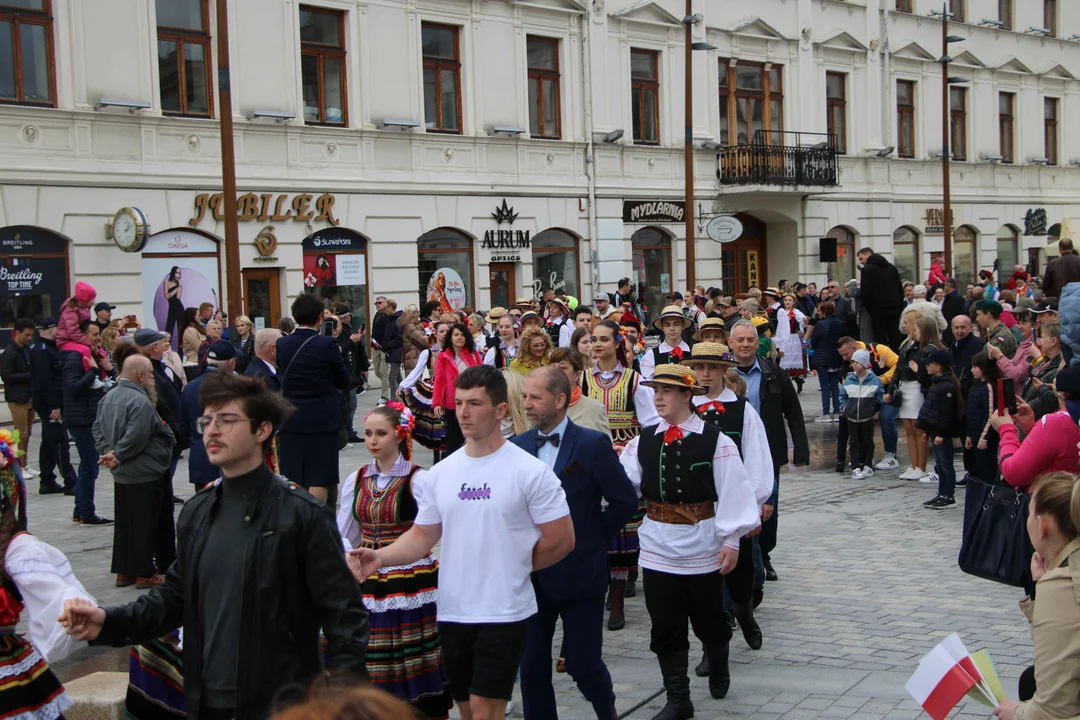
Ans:
POLYGON ((367 323, 367 237, 347 228, 326 228, 303 239, 303 287, 327 307, 352 311, 352 327, 367 323))

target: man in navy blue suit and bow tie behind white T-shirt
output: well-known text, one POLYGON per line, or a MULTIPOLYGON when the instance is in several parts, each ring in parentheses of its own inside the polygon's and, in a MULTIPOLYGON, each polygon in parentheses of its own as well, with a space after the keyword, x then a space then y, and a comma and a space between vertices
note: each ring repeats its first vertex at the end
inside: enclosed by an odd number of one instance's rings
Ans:
POLYGON ((616 717, 611 675, 604 664, 604 596, 608 589, 608 543, 637 511, 637 491, 611 438, 566 417, 570 381, 558 368, 541 367, 525 378, 525 411, 534 429, 513 440, 548 463, 563 483, 573 519, 573 551, 532 573, 537 614, 528 621, 522 658, 526 720, 557 716, 551 684, 551 642, 562 616, 566 669, 598 720, 616 717), (607 501, 607 507, 600 500, 607 501))

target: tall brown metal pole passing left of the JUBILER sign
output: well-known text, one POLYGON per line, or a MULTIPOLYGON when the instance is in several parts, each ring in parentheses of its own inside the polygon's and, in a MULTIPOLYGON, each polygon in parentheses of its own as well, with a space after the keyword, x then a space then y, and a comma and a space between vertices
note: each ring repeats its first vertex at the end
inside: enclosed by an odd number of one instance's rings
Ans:
POLYGON ((232 87, 229 80, 229 9, 217 0, 218 114, 221 119, 221 199, 225 204, 225 287, 229 337, 243 314, 240 289, 240 229, 237 226, 237 160, 232 146, 232 87))

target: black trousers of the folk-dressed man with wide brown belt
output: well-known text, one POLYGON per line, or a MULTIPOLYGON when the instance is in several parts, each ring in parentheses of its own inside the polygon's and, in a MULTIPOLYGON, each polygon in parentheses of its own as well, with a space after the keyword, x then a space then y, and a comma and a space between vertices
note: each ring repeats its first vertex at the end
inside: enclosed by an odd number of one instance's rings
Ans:
POLYGON ((645 608, 652 622, 649 650, 657 655, 690 649, 689 625, 706 646, 731 640, 724 607, 724 575, 719 570, 700 575, 675 575, 642 568, 645 608))

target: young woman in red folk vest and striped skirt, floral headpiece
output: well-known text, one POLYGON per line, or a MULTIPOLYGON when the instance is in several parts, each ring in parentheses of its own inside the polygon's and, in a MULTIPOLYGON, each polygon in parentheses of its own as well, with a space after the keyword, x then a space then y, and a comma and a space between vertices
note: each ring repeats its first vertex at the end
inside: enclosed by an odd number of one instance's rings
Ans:
MULTIPOLYGON (((364 444, 374 460, 341 488, 337 519, 346 551, 384 547, 413 527, 413 478, 421 470, 411 462, 413 429, 413 413, 401 403, 375 408, 364 419, 364 444)), ((446 718, 454 705, 435 622, 437 584, 438 560, 429 553, 407 567, 380 568, 363 585, 372 683, 427 718, 446 718)))

